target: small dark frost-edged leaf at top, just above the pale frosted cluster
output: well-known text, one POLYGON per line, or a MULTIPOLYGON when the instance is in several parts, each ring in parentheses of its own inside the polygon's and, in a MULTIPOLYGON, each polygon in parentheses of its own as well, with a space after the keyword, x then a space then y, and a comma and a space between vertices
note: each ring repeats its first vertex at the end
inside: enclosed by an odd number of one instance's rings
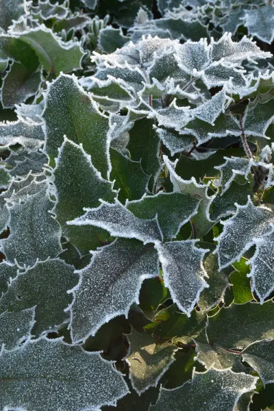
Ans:
POLYGON ((112 53, 116 49, 121 49, 128 41, 129 37, 123 35, 121 27, 114 29, 107 26, 99 32, 98 45, 103 53, 112 53))

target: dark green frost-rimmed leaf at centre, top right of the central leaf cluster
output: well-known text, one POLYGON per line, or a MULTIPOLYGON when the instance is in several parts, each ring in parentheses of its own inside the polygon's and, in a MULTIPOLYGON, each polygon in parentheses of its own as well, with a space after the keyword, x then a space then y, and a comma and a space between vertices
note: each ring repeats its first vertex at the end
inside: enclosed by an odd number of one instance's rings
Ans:
POLYGON ((158 192, 144 195, 142 199, 129 201, 126 207, 140 219, 153 219, 157 214, 164 238, 175 238, 182 225, 197 214, 199 199, 179 192, 158 192))

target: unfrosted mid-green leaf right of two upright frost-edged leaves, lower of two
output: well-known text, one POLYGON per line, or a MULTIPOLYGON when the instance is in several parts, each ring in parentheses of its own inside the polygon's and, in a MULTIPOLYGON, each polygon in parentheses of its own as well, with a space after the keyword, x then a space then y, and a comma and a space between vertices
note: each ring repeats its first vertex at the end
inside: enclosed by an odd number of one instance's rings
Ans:
POLYGON ((147 190, 149 176, 144 173, 140 161, 132 161, 121 151, 110 149, 112 171, 110 179, 115 180, 114 188, 119 190, 119 200, 140 199, 147 190))

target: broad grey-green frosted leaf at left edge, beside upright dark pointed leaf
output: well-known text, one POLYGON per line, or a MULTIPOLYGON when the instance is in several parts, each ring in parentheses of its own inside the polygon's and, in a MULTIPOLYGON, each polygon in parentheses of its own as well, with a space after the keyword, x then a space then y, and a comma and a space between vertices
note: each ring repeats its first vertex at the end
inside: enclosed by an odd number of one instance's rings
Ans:
POLYGON ((1 251, 9 262, 33 265, 36 260, 55 257, 62 251, 60 225, 49 211, 53 202, 47 193, 47 184, 22 203, 8 206, 10 236, 1 240, 1 251))

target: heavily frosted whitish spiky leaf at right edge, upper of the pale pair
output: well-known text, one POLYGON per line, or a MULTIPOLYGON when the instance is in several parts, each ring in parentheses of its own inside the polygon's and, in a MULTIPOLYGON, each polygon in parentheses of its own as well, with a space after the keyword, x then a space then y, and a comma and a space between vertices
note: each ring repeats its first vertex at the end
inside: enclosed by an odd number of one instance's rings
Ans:
POLYGON ((238 206, 231 219, 223 221, 223 232, 216 240, 220 269, 239 260, 256 239, 271 232, 274 214, 268 208, 253 206, 249 197, 245 206, 238 206))

